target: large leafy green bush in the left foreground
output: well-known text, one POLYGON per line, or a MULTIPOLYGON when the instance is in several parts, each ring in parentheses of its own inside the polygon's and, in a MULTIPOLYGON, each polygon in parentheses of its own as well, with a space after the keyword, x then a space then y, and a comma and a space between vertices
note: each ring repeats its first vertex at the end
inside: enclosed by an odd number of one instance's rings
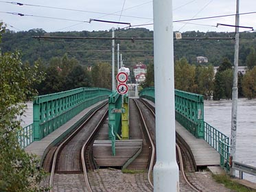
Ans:
MULTIPOLYGON (((1 40, 0 23, 0 40, 1 40)), ((16 117, 23 114, 25 101, 36 94, 34 82, 40 82, 42 74, 37 65, 21 62, 19 52, 0 56, 0 191, 43 191, 39 186, 44 173, 37 169, 36 156, 21 149, 17 132, 21 130, 16 117)))

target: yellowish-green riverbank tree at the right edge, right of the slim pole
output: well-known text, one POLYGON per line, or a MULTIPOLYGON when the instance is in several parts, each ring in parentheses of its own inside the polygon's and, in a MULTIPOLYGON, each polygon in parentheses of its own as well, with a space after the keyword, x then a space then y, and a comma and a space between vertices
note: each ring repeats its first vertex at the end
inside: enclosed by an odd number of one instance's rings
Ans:
POLYGON ((248 70, 242 80, 242 90, 248 99, 256 98, 256 67, 248 70))

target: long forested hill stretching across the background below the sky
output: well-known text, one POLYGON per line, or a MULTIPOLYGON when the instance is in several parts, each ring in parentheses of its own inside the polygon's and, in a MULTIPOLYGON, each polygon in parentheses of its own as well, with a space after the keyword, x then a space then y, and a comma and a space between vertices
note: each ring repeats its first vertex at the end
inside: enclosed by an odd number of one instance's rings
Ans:
MULTIPOLYGON (((111 31, 93 32, 52 32, 43 29, 31 29, 28 32, 12 32, 7 30, 3 34, 1 51, 20 50, 23 62, 34 64, 38 58, 49 64, 54 57, 62 57, 65 53, 71 58, 76 58, 81 65, 93 66, 97 62, 111 62, 111 40, 97 39, 110 38, 111 31), (38 39, 35 36, 68 36, 68 37, 95 37, 96 39, 38 39)), ((174 40, 174 58, 186 58, 190 64, 196 64, 197 56, 208 58, 213 66, 219 66, 223 58, 233 62, 234 33, 231 32, 184 32, 183 39, 174 40), (190 38, 189 40, 185 38, 190 38), (203 38, 203 39, 202 39, 203 38), (217 38, 217 39, 210 39, 217 38), (220 38, 220 39, 218 39, 220 38)), ((245 65, 246 57, 251 47, 255 48, 255 32, 240 33, 240 65, 245 65)), ((117 29, 117 38, 130 38, 129 40, 115 40, 120 45, 120 53, 126 67, 131 67, 137 62, 149 64, 153 60, 153 41, 150 39, 134 40, 132 38, 152 38, 153 32, 145 28, 117 29)), ((175 35, 174 35, 175 37, 175 35)))

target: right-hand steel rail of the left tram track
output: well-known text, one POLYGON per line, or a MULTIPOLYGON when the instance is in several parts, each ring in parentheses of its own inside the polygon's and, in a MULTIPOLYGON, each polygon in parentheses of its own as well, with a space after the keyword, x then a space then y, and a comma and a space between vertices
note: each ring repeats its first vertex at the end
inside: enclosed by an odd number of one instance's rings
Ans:
POLYGON ((97 126, 95 127, 93 132, 91 132, 91 135, 89 136, 89 138, 84 142, 84 145, 82 145, 82 149, 81 149, 81 160, 82 160, 82 169, 83 169, 83 172, 84 172, 84 182, 85 182, 86 187, 89 190, 89 192, 93 192, 93 190, 91 189, 91 185, 89 183, 89 178, 88 178, 87 171, 86 171, 86 165, 85 165, 85 160, 84 160, 84 152, 85 152, 86 145, 88 145, 89 141, 91 141, 91 139, 93 138, 93 136, 95 135, 97 130, 100 128, 100 125, 102 124, 102 121, 104 121, 104 119, 106 118, 107 114, 108 114, 108 110, 106 110, 102 119, 100 119, 99 123, 97 123, 97 126))

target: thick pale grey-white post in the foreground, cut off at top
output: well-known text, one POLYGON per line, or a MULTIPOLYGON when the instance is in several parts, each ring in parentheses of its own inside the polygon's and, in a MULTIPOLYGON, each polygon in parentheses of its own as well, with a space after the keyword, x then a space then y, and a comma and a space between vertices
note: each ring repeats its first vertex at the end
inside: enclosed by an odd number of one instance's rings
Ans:
POLYGON ((176 163, 172 0, 154 0, 156 165, 154 191, 179 191, 176 163))

